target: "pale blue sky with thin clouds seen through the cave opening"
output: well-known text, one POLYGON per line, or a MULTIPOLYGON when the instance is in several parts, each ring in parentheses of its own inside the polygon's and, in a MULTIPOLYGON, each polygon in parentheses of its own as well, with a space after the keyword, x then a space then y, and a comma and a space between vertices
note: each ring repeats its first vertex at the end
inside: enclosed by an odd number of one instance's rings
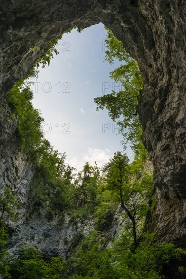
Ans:
MULTIPOLYGON (((104 61, 105 39, 101 23, 81 33, 64 34, 57 46, 59 54, 40 69, 32 86, 33 106, 45 118, 45 137, 59 152, 66 152, 67 163, 78 170, 85 161, 102 166, 114 152, 123 150, 117 124, 106 110, 96 112, 93 101, 120 87, 109 78, 120 62, 110 65, 104 61)), ((127 152, 131 157, 131 150, 127 152)))

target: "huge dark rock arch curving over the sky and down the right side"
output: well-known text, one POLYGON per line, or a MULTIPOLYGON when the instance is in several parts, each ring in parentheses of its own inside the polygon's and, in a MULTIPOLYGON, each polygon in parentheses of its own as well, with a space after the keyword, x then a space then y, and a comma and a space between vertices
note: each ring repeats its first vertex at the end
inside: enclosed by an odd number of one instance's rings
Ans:
MULTIPOLYGON (((1 0, 0 17, 2 97, 48 49, 48 41, 75 25, 102 22, 137 59, 143 77, 138 112, 154 164, 157 197, 147 226, 158 228, 158 239, 186 247, 185 1, 1 0), (40 51, 33 53, 34 46, 40 51)), ((15 123, 9 123, 9 129, 15 123)), ((7 164, 16 156, 11 153, 15 145, 13 137, 7 149, 3 142, 10 155, 7 164)))

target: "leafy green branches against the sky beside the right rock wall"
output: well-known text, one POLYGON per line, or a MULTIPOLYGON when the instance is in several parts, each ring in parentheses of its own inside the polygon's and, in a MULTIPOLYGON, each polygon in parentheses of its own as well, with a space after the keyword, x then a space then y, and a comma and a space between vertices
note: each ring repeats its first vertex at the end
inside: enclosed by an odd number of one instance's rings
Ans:
POLYGON ((124 138, 124 146, 130 142, 136 148, 141 141, 142 128, 137 114, 139 91, 142 89, 142 78, 137 62, 123 48, 122 42, 114 37, 114 34, 107 29, 105 40, 107 50, 105 60, 113 63, 117 58, 124 62, 113 72, 110 78, 122 85, 122 90, 112 90, 109 94, 94 98, 97 104, 97 111, 108 110, 109 117, 120 126, 120 132, 124 138))

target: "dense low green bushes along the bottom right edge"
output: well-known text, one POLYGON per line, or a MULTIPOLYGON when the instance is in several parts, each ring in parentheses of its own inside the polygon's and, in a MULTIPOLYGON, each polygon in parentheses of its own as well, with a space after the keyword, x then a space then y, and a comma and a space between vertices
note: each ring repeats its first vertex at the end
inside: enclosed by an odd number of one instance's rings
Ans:
POLYGON ((172 243, 153 243, 153 235, 132 252, 121 237, 111 248, 101 248, 101 238, 93 232, 76 248, 71 257, 70 278, 158 279, 175 278, 183 273, 186 252, 172 243))

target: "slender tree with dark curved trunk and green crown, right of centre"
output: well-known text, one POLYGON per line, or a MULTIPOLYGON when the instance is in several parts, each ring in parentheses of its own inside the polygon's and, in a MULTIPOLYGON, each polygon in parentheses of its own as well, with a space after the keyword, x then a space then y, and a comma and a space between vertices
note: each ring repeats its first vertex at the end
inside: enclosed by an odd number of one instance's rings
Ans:
POLYGON ((135 249, 138 245, 137 218, 140 220, 145 218, 150 209, 148 201, 153 191, 152 171, 145 169, 143 165, 145 162, 146 157, 142 152, 140 156, 135 156, 132 163, 129 163, 126 154, 116 152, 104 166, 105 187, 120 201, 121 207, 132 222, 135 249))

